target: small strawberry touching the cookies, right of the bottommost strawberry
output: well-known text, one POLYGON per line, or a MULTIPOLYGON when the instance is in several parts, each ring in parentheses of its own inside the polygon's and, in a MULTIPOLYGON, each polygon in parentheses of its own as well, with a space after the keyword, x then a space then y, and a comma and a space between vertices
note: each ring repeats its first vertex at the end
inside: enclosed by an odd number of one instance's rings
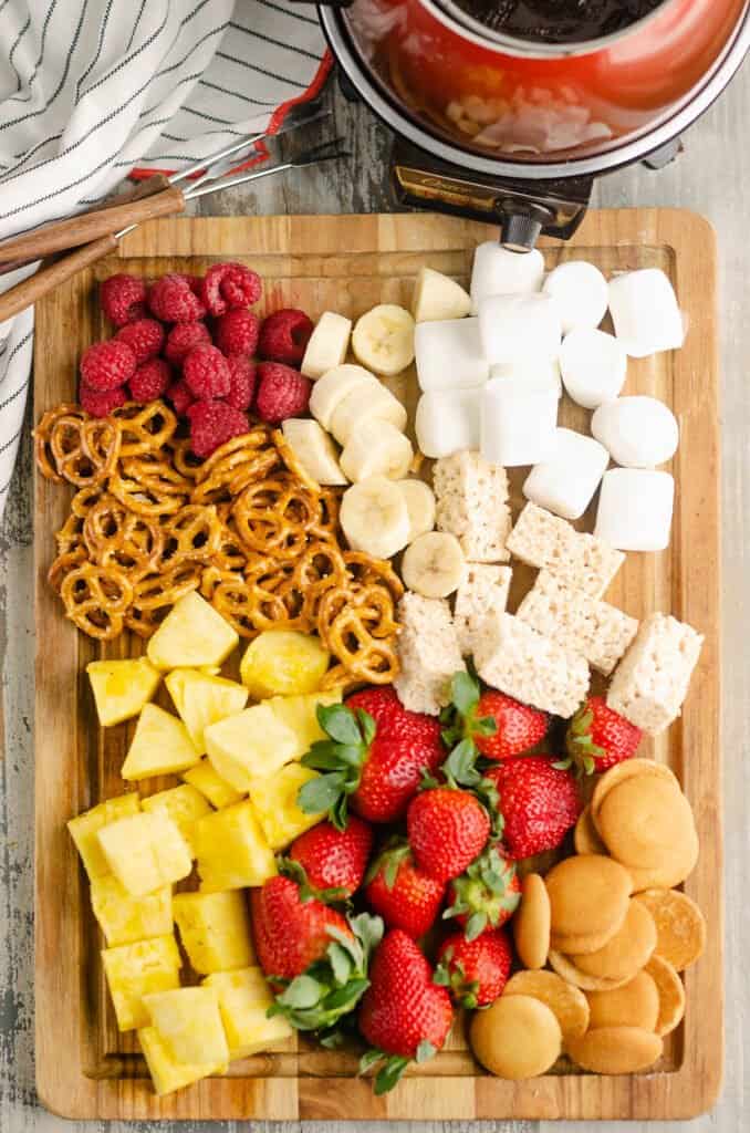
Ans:
POLYGON ((487 1007, 503 994, 513 953, 502 929, 483 932, 476 940, 453 932, 437 951, 435 982, 450 990, 460 1007, 487 1007))

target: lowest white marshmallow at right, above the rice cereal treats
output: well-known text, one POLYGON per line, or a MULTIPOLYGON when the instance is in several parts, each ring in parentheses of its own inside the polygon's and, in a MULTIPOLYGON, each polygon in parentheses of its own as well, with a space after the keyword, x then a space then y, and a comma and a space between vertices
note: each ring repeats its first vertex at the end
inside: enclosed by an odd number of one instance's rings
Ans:
POLYGON ((602 480, 594 535, 619 551, 664 551, 673 506, 668 472, 611 468, 602 480))

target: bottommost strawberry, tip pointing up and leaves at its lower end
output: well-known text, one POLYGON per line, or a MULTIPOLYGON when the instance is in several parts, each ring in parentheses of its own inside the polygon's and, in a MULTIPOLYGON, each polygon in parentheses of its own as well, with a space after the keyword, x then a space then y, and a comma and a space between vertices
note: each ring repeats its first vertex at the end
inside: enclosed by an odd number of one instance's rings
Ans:
POLYGON ((370 966, 370 986, 359 1008, 359 1030, 374 1049, 360 1062, 364 1073, 385 1064, 375 1093, 392 1090, 412 1058, 426 1062, 442 1048, 453 1022, 451 997, 433 982, 433 970, 401 929, 385 935, 370 966))

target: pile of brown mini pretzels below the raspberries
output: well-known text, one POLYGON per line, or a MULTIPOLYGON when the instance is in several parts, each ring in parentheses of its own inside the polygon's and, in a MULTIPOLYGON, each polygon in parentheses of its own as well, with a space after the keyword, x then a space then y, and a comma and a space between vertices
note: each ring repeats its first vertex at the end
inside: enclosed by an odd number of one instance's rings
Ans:
POLYGON ((336 659, 326 688, 391 683, 403 587, 390 563, 344 548, 338 493, 266 425, 205 461, 177 431, 161 401, 42 417, 39 469, 77 488, 49 571, 67 616, 102 641, 123 629, 147 638, 199 590, 241 637, 316 632, 336 659))

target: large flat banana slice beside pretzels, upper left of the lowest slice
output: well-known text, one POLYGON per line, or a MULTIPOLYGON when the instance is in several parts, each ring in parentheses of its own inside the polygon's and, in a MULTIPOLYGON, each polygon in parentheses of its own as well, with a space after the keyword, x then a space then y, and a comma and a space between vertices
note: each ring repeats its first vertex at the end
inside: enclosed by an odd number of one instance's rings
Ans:
POLYGON ((343 494, 341 528, 352 551, 374 559, 390 559, 409 538, 409 511, 393 480, 372 476, 352 484, 343 494))

